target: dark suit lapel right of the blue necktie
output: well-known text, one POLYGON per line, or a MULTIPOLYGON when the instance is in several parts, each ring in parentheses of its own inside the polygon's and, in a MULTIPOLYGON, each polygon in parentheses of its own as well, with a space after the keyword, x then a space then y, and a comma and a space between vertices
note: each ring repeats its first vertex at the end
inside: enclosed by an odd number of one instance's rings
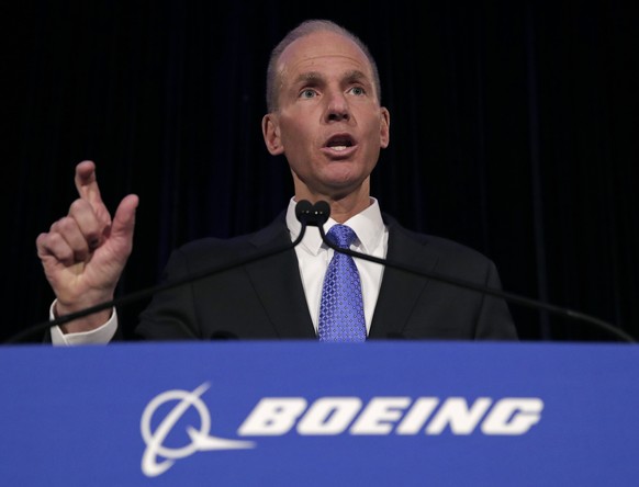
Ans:
MULTIPOLYGON (((389 224, 386 259, 433 271, 437 264, 437 258, 425 252, 425 244, 413 238, 394 219, 388 216, 384 216, 384 219, 389 224)), ((369 338, 401 338, 415 304, 427 284, 426 278, 386 265, 369 338)))

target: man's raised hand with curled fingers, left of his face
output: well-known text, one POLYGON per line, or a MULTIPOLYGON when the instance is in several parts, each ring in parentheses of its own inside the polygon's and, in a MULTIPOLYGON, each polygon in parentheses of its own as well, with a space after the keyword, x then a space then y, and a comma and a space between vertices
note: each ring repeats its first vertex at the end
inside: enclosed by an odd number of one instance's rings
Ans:
MULTIPOLYGON (((57 316, 112 299, 133 248, 138 197, 125 196, 111 218, 92 161, 76 167, 76 188, 80 197, 71 203, 68 215, 36 239, 37 254, 57 297, 57 316)), ((110 314, 105 310, 71 321, 65 331, 98 328, 110 314)))

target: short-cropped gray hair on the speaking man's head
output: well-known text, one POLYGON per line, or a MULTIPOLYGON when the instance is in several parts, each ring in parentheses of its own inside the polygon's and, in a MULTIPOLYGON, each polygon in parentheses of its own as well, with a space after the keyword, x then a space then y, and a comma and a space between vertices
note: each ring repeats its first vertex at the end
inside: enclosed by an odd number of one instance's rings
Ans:
POLYGON ((266 91, 266 102, 267 102, 267 110, 269 113, 276 112, 278 110, 278 71, 277 65, 280 56, 282 55, 283 50, 289 47, 294 41, 305 37, 306 35, 314 34, 315 32, 334 32, 336 34, 344 35, 351 39, 357 46, 363 52, 368 61, 370 63, 371 70, 373 73, 373 83, 375 88, 375 92, 378 95, 378 100, 381 101, 382 98, 382 88, 380 83, 380 75, 378 72, 378 66, 370 54, 367 45, 361 42, 361 39, 351 33, 350 31, 344 29, 341 25, 336 24, 333 21, 328 20, 307 20, 302 22, 295 29, 290 31, 284 38, 280 41, 280 43, 271 50, 271 56, 269 58, 269 65, 267 68, 267 91, 266 91))

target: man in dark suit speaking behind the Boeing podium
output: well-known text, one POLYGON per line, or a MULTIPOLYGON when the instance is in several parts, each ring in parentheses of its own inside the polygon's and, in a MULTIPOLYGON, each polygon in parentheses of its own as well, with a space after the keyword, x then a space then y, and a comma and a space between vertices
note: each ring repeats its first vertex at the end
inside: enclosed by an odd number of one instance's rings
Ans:
MULTIPOLYGON (((269 61, 262 134, 269 152, 287 158, 294 197, 280 218, 254 235, 176 250, 165 278, 291 242, 301 231, 296 202, 306 200, 329 204, 325 229, 348 226, 354 250, 498 287, 490 260, 402 228, 371 197, 370 175, 390 140, 390 114, 380 95, 375 63, 350 32, 327 21, 291 31, 269 61)), ((126 196, 111 218, 91 161, 78 165, 76 185, 80 197, 69 214, 36 242, 57 297, 52 314, 58 316, 113 297, 131 253, 138 203, 136 195, 126 196)), ((159 293, 137 330, 148 339, 322 338, 322 283, 332 257, 318 234, 309 231, 294 250, 159 293)), ((356 273, 363 338, 516 338, 501 299, 367 261, 358 260, 356 273)), ((116 312, 104 310, 52 329, 52 339, 105 342, 116 327, 116 312)))

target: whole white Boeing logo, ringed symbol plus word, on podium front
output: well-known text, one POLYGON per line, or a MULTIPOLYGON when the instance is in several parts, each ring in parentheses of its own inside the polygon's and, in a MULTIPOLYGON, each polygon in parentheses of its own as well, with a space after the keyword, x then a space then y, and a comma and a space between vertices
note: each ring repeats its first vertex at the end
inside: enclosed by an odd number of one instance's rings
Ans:
MULTIPOLYGON (((253 441, 216 438, 210 434, 211 414, 200 396, 209 388, 204 383, 194 390, 173 389, 154 397, 142 415, 141 432, 146 443, 142 472, 157 477, 178 458, 211 450, 256 448, 253 441), (175 401, 164 419, 154 415, 166 403, 175 401), (165 440, 177 422, 194 408, 200 427, 188 426, 190 442, 169 448, 165 440), (158 423, 155 430, 152 420, 158 423)), ((167 408, 162 408, 166 410, 167 408)), ((541 419, 543 401, 538 397, 504 397, 494 400, 479 397, 320 397, 313 403, 303 397, 262 397, 237 430, 239 437, 281 437, 291 431, 299 435, 438 435, 449 430, 453 435, 479 431, 485 435, 520 435, 541 419)))

